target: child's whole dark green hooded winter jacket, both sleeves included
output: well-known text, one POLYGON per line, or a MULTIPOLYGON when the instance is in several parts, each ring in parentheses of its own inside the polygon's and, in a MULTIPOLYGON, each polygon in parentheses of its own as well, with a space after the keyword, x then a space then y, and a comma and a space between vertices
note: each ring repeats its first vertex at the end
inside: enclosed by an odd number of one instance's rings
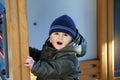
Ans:
POLYGON ((30 48, 30 56, 36 61, 31 71, 37 80, 79 80, 78 58, 85 55, 86 47, 87 42, 79 33, 59 51, 46 40, 41 51, 30 48))

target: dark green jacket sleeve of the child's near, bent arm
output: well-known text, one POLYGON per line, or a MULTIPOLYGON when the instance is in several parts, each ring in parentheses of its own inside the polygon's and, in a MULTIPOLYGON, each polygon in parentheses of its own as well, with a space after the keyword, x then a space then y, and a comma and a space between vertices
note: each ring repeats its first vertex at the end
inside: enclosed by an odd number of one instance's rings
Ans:
POLYGON ((31 71, 39 78, 55 79, 73 73, 79 64, 77 61, 77 57, 74 54, 64 54, 55 60, 36 62, 31 71))

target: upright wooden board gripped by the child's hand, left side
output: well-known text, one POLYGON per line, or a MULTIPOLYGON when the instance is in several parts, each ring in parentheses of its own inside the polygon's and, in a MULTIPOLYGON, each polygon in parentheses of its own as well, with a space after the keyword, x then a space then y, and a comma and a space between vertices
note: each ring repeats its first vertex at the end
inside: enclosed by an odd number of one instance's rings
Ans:
POLYGON ((26 15, 26 1, 18 0, 18 16, 19 16, 19 39, 20 39, 20 52, 21 52, 21 80, 30 80, 30 71, 24 66, 28 53, 28 26, 26 15), (27 74, 27 75, 25 75, 27 74))

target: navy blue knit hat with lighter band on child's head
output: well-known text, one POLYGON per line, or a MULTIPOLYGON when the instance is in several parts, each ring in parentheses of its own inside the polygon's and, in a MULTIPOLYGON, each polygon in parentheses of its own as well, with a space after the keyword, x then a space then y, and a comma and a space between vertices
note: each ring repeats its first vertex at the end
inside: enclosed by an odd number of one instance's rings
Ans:
POLYGON ((50 26, 49 35, 52 32, 64 32, 69 34, 72 38, 76 36, 76 26, 74 21, 68 15, 62 15, 56 18, 50 26))

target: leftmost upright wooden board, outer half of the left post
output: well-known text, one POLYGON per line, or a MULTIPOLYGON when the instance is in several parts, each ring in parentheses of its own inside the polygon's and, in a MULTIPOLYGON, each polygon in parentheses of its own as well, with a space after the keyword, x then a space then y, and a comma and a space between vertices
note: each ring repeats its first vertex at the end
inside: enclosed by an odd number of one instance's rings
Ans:
POLYGON ((11 79, 21 80, 20 74, 20 58, 19 58, 19 37, 18 37, 18 16, 17 16, 17 1, 6 1, 6 20, 7 20, 7 35, 8 35, 8 55, 9 55, 9 72, 11 79), (13 4, 14 2, 14 4, 13 4), (9 20, 9 21, 8 21, 9 20), (13 76, 14 75, 14 76, 13 76))

